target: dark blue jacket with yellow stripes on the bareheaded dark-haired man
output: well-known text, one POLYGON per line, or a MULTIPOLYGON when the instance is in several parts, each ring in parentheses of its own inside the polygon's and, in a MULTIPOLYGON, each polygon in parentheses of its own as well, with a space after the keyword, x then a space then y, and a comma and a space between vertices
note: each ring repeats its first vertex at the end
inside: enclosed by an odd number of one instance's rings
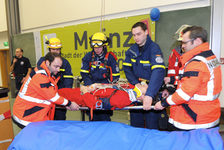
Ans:
POLYGON ((136 43, 132 45, 125 53, 123 69, 128 82, 132 85, 140 83, 139 78, 149 81, 146 95, 155 97, 165 75, 163 54, 159 45, 149 36, 141 51, 136 43))

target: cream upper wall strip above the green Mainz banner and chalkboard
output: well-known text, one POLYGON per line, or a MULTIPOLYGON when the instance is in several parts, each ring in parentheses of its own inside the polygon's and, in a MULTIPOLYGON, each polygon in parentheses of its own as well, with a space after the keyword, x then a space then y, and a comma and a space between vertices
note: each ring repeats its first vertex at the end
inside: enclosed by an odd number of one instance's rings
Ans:
POLYGON ((153 7, 161 11, 209 6, 209 0, 19 0, 22 32, 99 21, 101 5, 110 17, 146 14, 153 7))

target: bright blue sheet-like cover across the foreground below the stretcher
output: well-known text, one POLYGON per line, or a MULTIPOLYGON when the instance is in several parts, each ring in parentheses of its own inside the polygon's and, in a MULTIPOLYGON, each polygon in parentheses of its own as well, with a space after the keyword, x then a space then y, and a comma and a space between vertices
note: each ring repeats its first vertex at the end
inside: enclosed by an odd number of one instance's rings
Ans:
POLYGON ((8 150, 223 150, 218 130, 167 132, 106 121, 44 121, 25 127, 8 150))

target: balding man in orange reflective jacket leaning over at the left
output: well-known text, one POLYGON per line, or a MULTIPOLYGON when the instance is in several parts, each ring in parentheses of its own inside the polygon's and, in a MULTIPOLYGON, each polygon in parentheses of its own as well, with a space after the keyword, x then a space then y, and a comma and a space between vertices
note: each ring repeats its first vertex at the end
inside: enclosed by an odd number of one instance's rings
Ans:
POLYGON ((60 54, 48 52, 44 61, 25 79, 13 105, 13 121, 24 128, 31 122, 53 120, 55 105, 79 110, 79 105, 58 95, 58 74, 63 60, 60 54))

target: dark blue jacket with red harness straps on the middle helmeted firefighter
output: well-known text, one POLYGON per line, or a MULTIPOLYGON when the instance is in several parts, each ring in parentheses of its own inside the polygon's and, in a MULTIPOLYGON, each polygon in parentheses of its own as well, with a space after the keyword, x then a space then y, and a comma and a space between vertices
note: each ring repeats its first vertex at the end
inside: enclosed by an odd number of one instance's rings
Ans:
POLYGON ((115 57, 112 52, 106 50, 101 56, 96 55, 94 50, 87 53, 82 59, 80 70, 84 85, 118 81, 120 71, 115 57))

